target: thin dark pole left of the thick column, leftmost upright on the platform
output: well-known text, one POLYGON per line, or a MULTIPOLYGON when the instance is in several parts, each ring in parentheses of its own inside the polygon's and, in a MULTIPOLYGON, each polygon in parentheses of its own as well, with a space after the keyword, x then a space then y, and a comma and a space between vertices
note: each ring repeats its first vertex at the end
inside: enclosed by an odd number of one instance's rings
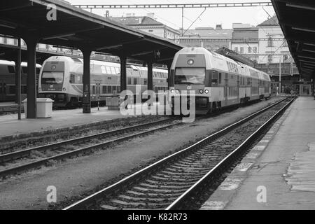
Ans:
POLYGON ((21 38, 18 38, 18 55, 15 59, 15 103, 18 104, 18 119, 21 120, 21 38))

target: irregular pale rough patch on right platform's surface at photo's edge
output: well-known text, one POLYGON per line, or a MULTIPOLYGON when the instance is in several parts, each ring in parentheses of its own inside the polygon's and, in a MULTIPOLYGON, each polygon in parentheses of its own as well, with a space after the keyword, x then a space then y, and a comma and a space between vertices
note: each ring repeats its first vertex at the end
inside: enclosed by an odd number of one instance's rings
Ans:
POLYGON ((307 144, 309 151, 297 153, 285 176, 291 190, 315 192, 315 142, 307 144))

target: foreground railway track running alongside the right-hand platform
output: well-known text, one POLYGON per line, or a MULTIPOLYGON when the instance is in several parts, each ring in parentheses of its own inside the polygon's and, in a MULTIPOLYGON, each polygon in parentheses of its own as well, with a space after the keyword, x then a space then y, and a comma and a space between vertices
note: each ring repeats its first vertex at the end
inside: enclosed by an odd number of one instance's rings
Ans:
POLYGON ((185 209, 261 137, 293 100, 272 104, 64 210, 185 209))

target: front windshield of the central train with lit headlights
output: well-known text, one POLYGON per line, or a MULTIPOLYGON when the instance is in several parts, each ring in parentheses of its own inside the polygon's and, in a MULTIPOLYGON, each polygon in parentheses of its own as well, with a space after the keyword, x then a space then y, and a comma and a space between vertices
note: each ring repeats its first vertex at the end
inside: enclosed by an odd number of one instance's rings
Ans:
POLYGON ((206 69, 203 68, 177 68, 175 71, 175 84, 204 85, 206 69))

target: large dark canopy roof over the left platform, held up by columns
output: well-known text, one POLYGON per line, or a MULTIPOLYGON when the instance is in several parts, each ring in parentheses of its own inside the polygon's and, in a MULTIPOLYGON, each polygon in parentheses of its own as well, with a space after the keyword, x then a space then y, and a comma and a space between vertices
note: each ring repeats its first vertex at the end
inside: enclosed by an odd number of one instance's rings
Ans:
POLYGON ((172 62, 181 45, 133 29, 57 0, 1 0, 0 34, 32 38, 38 43, 90 49, 112 55, 172 62), (49 21, 50 4, 57 20, 49 21))

